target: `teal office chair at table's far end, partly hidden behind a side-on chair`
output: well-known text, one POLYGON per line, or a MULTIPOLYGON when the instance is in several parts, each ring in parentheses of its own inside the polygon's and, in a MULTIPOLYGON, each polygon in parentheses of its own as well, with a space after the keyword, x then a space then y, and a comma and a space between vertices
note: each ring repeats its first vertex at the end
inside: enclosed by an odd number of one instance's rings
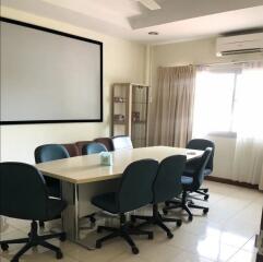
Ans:
MULTIPOLYGON (((205 139, 193 139, 193 140, 190 140, 189 143, 187 144, 187 148, 190 148, 190 150, 205 151, 206 147, 211 147, 212 153, 207 162, 207 165, 205 166, 205 169, 204 169, 204 177, 207 177, 213 172, 214 154, 215 154, 214 142, 205 139)), ((187 163, 184 176, 192 177, 198 166, 199 166, 199 159, 195 159, 195 158, 187 163)), ((204 200, 207 200, 210 198, 210 194, 207 192, 208 192, 207 188, 200 188, 195 191, 195 193, 204 195, 204 200)))

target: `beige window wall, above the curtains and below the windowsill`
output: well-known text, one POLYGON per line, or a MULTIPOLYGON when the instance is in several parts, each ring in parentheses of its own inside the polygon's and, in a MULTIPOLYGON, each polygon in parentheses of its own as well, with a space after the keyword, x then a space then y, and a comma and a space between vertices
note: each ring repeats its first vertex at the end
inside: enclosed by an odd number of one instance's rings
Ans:
MULTIPOLYGON (((217 58, 215 56, 215 38, 193 41, 167 44, 152 47, 152 87, 153 106, 157 88, 157 68, 186 64, 220 63, 244 60, 263 59, 263 55, 239 55, 217 58)), ((154 116, 152 116, 154 119, 154 116)), ((153 121, 151 121, 153 122, 153 121)), ((154 130, 152 127, 151 130, 154 130)), ((152 132, 153 133, 153 132, 152 132)), ((236 146, 236 139, 230 136, 211 136, 216 144, 214 176, 231 178, 231 163, 236 146)))

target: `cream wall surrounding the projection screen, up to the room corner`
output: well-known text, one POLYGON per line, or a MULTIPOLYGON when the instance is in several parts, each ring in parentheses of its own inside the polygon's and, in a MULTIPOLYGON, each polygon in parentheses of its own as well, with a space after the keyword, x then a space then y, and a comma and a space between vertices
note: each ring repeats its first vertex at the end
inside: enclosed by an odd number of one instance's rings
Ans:
POLYGON ((115 82, 144 83, 145 46, 3 7, 1 15, 104 43, 104 122, 2 126, 0 160, 34 163, 37 145, 110 135, 110 86, 115 82))

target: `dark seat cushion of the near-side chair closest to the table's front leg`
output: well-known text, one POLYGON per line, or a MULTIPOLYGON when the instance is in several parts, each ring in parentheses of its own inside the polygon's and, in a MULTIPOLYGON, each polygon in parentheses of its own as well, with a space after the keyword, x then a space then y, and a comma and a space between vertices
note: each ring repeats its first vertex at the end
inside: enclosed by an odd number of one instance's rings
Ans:
POLYGON ((118 213, 118 203, 116 201, 116 192, 104 193, 96 195, 92 199, 92 203, 97 207, 105 210, 109 213, 118 213))

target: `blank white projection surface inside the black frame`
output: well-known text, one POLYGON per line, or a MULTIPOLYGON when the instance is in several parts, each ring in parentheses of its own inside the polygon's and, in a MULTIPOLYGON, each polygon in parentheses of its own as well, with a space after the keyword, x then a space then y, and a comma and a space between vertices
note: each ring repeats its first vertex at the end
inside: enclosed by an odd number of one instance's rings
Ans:
POLYGON ((101 120, 100 48, 1 22, 1 122, 101 120))

